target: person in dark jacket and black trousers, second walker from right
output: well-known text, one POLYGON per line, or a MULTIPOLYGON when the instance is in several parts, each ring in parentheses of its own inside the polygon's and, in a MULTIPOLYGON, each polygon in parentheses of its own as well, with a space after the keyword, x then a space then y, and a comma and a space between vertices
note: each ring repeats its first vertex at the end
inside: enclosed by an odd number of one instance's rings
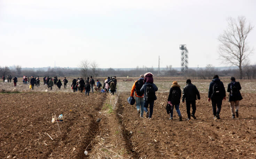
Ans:
POLYGON ((219 76, 215 75, 209 85, 208 101, 211 100, 212 112, 214 120, 220 119, 219 114, 221 110, 222 100, 226 100, 226 91, 223 82, 220 81, 219 76), (216 111, 217 106, 217 111, 216 111))

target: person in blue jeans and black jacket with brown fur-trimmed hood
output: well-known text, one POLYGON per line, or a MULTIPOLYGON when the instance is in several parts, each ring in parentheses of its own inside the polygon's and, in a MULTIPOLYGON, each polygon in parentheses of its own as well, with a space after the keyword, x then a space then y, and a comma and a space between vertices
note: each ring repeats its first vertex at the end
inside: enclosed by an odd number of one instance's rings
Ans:
POLYGON ((181 90, 180 90, 180 85, 178 85, 177 81, 173 81, 169 96, 168 96, 168 104, 171 105, 171 112, 170 112, 170 120, 173 120, 173 106, 176 109, 176 112, 179 115, 179 121, 182 121, 182 116, 180 113, 179 105, 180 105, 180 97, 181 97, 181 90))

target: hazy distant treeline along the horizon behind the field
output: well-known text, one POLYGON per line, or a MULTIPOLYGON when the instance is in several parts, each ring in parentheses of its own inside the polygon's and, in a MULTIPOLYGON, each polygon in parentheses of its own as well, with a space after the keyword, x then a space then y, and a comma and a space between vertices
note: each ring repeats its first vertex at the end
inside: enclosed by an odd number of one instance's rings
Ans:
MULTIPOLYGON (((198 69, 188 69, 187 72, 180 72, 171 67, 166 67, 165 70, 161 70, 158 73, 158 70, 153 68, 135 68, 131 70, 116 70, 116 69, 96 69, 96 71, 88 70, 88 76, 94 77, 108 77, 108 76, 118 76, 118 77, 135 77, 146 72, 151 72, 154 76, 166 76, 166 77, 191 77, 194 79, 212 79, 215 74, 218 76, 234 76, 239 77, 239 69, 226 69, 218 70, 215 67, 208 66, 206 68, 198 69)), ((9 67, 0 67, 0 76, 12 77, 23 77, 23 76, 34 76, 34 77, 83 77, 82 70, 78 69, 69 69, 69 68, 48 68, 47 71, 43 70, 33 70, 33 69, 21 69, 20 67, 16 69, 10 69, 9 67)), ((243 79, 256 79, 256 65, 250 65, 243 68, 243 79)))

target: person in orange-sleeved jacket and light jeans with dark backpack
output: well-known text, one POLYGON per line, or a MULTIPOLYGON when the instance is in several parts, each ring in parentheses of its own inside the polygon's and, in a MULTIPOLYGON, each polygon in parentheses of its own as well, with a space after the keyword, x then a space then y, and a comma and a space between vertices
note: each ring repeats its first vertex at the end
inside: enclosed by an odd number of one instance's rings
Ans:
POLYGON ((140 89, 143 86, 143 84, 144 84, 144 75, 140 75, 140 78, 133 83, 132 90, 131 90, 131 97, 133 97, 134 91, 135 91, 137 114, 140 115, 141 118, 143 118, 144 94, 143 92, 140 91, 140 89))

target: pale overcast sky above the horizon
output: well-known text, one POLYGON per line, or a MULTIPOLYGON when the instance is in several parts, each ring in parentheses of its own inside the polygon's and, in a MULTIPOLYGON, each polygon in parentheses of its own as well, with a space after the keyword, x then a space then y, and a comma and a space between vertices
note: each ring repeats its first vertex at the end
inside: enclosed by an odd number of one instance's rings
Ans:
MULTIPOLYGON (((215 67, 227 17, 256 26, 255 0, 0 0, 0 66, 215 67)), ((256 49, 256 27, 248 36, 256 49)), ((250 56, 256 64, 256 50, 250 56)))

